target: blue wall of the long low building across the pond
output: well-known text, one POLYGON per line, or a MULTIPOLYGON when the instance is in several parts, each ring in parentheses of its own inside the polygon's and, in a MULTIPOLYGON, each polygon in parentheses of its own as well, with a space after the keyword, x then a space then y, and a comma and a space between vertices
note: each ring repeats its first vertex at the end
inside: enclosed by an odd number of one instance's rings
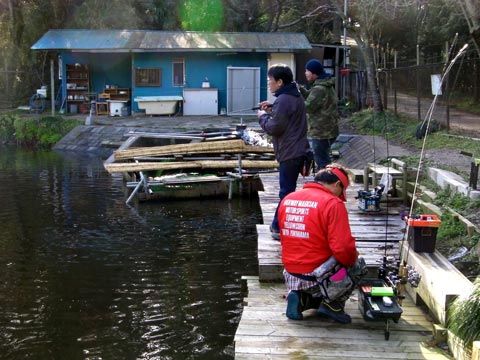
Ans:
MULTIPOLYGON (((173 86, 173 59, 185 61, 185 88, 201 88, 205 78, 210 87, 218 89, 219 109, 227 106, 227 67, 260 67, 260 99, 267 97, 267 53, 214 53, 214 52, 162 52, 162 53, 64 53, 65 64, 88 64, 90 69, 91 91, 103 92, 105 85, 117 85, 132 90, 132 110, 139 111, 133 101, 136 96, 183 95, 183 88, 173 86), (133 64, 131 63, 133 58, 133 64), (132 68, 161 68, 162 84, 159 87, 135 87, 132 84, 132 68)), ((65 81, 65 80, 64 80, 65 81)), ((66 96, 65 83, 63 96, 66 96)))

